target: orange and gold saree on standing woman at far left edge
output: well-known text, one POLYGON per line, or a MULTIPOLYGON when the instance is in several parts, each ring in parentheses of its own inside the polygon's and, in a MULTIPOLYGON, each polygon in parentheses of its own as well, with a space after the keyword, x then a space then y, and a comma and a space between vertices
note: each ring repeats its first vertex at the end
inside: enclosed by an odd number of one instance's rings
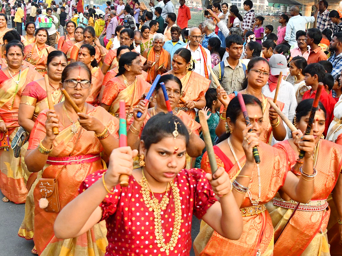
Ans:
MULTIPOLYGON (((0 71, 2 77, 5 74, 0 71)), ((21 72, 21 79, 18 84, 19 73, 13 76, 14 79, 4 79, 0 82, 0 116, 6 126, 18 125, 18 108, 21 101, 21 94, 25 86, 37 79, 39 74, 32 68, 26 67, 21 72)), ((10 143, 18 128, 10 128, 10 143)), ((24 203, 27 195, 24 172, 21 168, 20 158, 15 158, 11 147, 8 150, 0 151, 0 189, 2 193, 14 203, 24 203)))

